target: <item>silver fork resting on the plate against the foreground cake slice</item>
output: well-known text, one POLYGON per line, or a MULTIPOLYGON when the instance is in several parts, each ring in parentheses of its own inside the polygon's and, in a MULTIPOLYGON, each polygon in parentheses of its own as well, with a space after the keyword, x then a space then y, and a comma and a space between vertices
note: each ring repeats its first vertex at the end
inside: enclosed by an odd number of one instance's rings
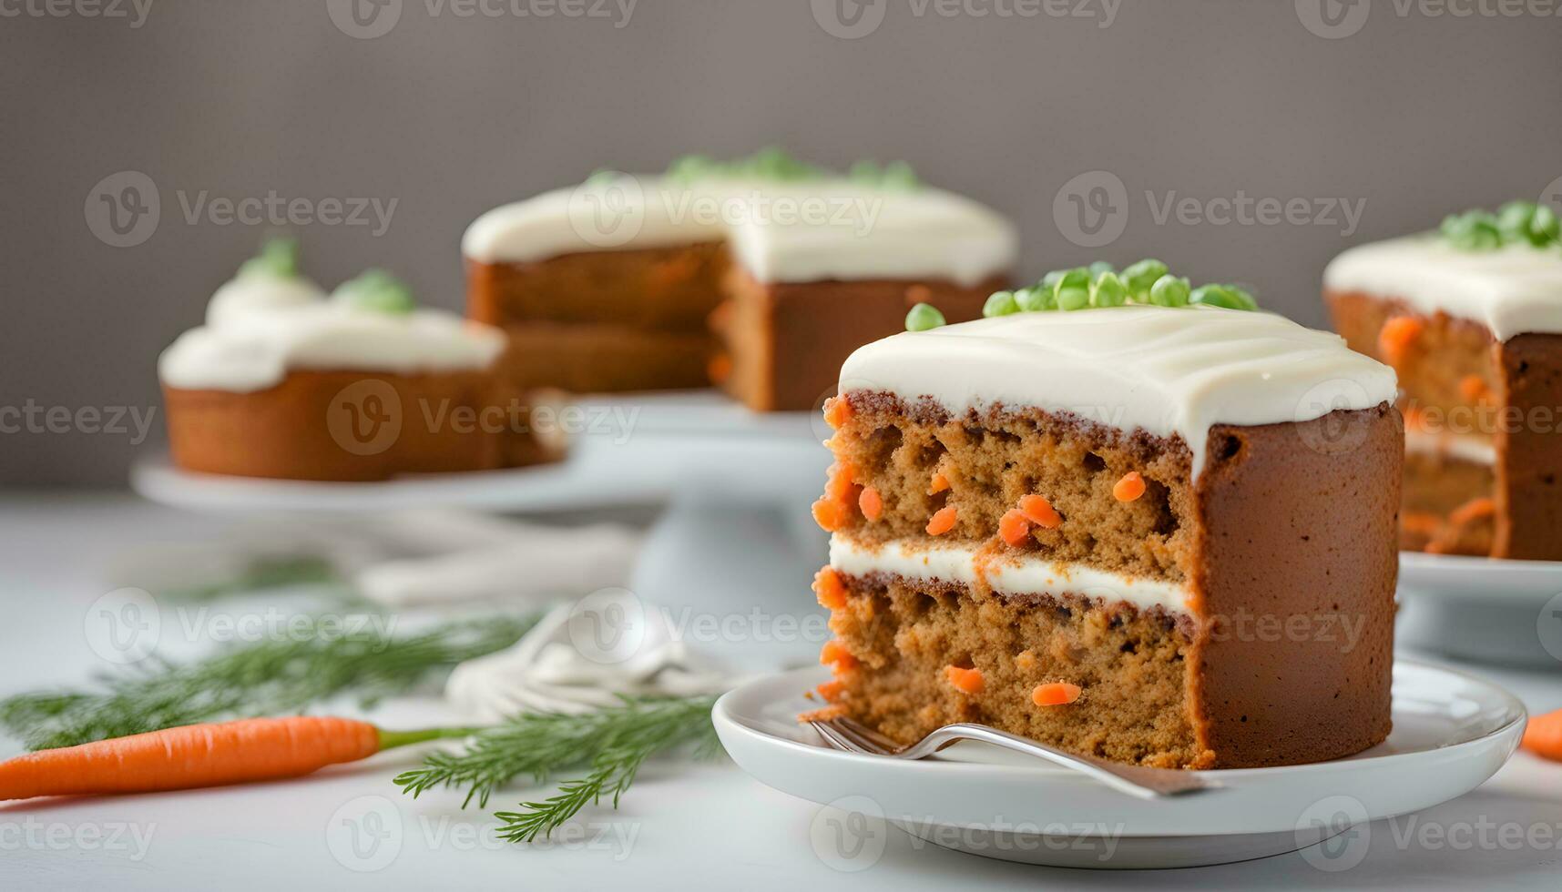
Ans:
POLYGON ((1198 772, 1107 762, 1106 759, 1097 759, 1093 756, 1079 756, 1054 750, 1028 737, 1009 734, 986 725, 945 725, 931 731, 926 737, 911 744, 909 747, 903 747, 884 734, 879 734, 865 725, 859 725, 851 719, 828 719, 823 722, 809 722, 809 725, 818 731, 818 736, 823 737, 826 744, 837 750, 845 750, 847 753, 862 753, 867 756, 884 756, 890 759, 925 759, 954 740, 981 740, 984 744, 1003 747, 1004 750, 1047 759, 1048 762, 1065 769, 1073 769, 1101 781, 1114 790, 1147 800, 1220 787, 1218 781, 1204 778, 1198 772))

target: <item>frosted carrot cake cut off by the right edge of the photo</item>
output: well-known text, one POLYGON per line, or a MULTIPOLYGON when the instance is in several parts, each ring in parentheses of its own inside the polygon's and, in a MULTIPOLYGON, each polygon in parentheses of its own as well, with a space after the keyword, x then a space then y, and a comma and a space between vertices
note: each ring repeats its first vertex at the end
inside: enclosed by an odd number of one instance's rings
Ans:
POLYGON ((1557 230, 1512 202, 1323 273, 1340 334, 1400 373, 1407 550, 1562 561, 1557 230))

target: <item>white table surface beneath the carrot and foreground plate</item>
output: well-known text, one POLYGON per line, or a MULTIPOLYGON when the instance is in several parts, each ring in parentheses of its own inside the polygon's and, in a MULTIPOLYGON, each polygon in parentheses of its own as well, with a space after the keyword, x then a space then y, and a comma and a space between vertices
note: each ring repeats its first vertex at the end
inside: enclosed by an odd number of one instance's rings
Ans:
MULTIPOLYGON (((111 669, 83 634, 87 606, 105 592, 108 556, 217 533, 217 522, 128 495, 5 495, 0 695, 111 669)), ((1531 711, 1562 706, 1562 673, 1476 669, 1531 711)), ((375 719, 422 725, 440 711, 437 700, 409 698, 375 719)), ((0 739, 0 755, 17 751, 16 740, 0 739)), ((0 889, 1562 887, 1562 765, 1525 753, 1470 795, 1370 825, 1367 858, 1337 873, 1300 855, 1172 872, 1039 869, 945 851, 900 831, 872 867, 840 873, 811 844, 818 806, 729 762, 651 765, 620 811, 587 809, 573 837, 522 847, 494 840, 494 819, 459 811, 453 792, 401 797, 390 778, 415 761, 387 753, 289 783, 0 806, 0 889), (1515 837, 1550 842, 1515 845, 1515 837)), ((508 808, 533 792, 503 790, 490 805, 508 808)))

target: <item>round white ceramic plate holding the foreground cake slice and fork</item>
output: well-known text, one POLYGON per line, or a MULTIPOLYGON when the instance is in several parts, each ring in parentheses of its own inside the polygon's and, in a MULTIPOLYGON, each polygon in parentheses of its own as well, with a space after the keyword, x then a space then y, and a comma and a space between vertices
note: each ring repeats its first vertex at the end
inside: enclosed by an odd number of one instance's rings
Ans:
MULTIPOLYGON (((715 705, 737 764, 778 790, 887 820, 937 845, 1070 867, 1190 867, 1295 851, 1354 823, 1459 797, 1512 756, 1523 705, 1415 662, 1393 669, 1393 733, 1348 759, 1211 772, 1221 789, 1147 801, 978 744, 904 762, 842 753, 797 723, 828 678, 811 667, 751 681, 715 705)), ((843 822, 842 826, 850 826, 843 822)), ((815 842, 817 845, 817 842, 815 842)))

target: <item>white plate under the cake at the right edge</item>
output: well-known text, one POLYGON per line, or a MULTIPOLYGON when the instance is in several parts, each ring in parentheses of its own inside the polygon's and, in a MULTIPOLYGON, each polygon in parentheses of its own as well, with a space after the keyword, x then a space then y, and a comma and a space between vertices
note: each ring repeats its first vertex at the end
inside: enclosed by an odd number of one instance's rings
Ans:
POLYGON ((1459 659, 1562 669, 1562 561, 1400 551, 1400 640, 1459 659))

